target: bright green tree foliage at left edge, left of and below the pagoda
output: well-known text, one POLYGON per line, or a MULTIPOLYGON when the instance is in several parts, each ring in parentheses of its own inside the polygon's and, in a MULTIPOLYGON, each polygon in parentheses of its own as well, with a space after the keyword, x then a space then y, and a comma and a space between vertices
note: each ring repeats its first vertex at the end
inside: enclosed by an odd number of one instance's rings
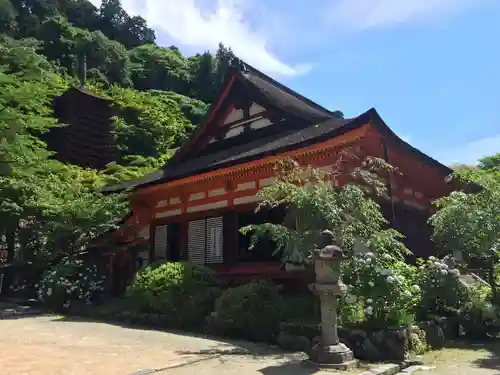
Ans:
POLYGON ((121 196, 95 191, 95 172, 51 158, 40 136, 56 126, 52 100, 66 87, 36 44, 0 45, 0 231, 16 260, 50 260, 115 228, 121 196))

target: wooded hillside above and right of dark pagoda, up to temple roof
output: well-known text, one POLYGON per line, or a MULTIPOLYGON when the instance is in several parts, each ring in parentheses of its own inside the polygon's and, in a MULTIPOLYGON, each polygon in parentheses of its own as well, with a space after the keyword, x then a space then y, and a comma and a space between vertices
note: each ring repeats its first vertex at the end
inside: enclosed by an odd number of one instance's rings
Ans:
POLYGON ((189 58, 175 46, 156 45, 146 21, 129 16, 119 0, 105 0, 99 9, 86 0, 0 0, 0 13, 6 73, 51 77, 61 92, 79 84, 85 59, 87 85, 121 109, 121 164, 164 161, 203 117, 232 59, 222 45, 215 56, 189 58))

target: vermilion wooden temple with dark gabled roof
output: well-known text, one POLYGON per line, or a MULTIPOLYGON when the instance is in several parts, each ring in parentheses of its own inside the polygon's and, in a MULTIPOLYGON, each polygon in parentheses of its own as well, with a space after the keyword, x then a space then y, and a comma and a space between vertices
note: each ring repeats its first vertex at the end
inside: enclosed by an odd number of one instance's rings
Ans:
POLYGON ((401 174, 388 181, 392 200, 382 208, 414 252, 433 253, 427 219, 431 202, 450 192, 448 167, 401 140, 375 109, 338 118, 241 64, 228 72, 205 121, 160 171, 108 189, 134 190, 131 215, 116 234, 123 248, 135 251, 110 255, 115 271, 119 264, 132 271, 139 257, 142 264, 184 259, 211 265, 221 276, 289 277, 293 272, 281 267, 269 246, 249 251, 239 228, 279 220, 279 213, 254 213, 277 161, 292 157, 328 169, 345 147, 360 160, 376 156, 399 168, 401 174))

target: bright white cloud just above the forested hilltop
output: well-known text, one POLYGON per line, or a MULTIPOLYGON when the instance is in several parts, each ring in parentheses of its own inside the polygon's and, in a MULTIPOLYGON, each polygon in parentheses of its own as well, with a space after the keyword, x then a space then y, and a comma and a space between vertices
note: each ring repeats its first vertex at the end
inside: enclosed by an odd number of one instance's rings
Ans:
MULTIPOLYGON (((97 6, 101 3, 91 1, 97 6)), ((268 29, 262 23, 272 20, 251 24, 248 16, 257 6, 251 0, 122 0, 122 4, 127 12, 141 15, 149 26, 182 45, 214 50, 222 42, 238 57, 270 74, 294 76, 311 68, 308 64, 292 66, 272 54, 267 33, 259 31, 268 29)))

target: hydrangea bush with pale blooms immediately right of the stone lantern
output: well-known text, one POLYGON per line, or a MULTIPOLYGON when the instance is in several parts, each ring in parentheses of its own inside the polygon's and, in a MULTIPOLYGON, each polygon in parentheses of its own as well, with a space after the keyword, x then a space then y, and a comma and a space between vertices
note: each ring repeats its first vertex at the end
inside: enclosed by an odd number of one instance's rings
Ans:
MULTIPOLYGON (((357 321, 369 327, 401 326, 413 321, 420 302, 421 288, 416 283, 415 267, 389 255, 369 252, 353 257, 344 267, 346 293, 340 299, 342 310, 359 307, 364 316, 357 321)), ((359 311, 359 310, 358 310, 359 311)))

